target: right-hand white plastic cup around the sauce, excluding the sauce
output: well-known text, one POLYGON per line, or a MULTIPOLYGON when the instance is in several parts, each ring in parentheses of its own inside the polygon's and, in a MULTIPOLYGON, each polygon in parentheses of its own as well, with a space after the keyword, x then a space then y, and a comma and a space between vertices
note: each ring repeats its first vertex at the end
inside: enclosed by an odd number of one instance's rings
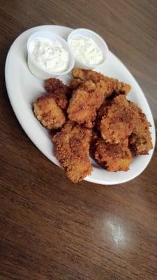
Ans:
POLYGON ((68 35, 67 41, 68 41, 68 46, 75 57, 75 67, 82 68, 82 69, 94 69, 97 66, 100 66, 105 63, 108 53, 109 53, 107 43, 105 43, 103 38, 101 38, 100 35, 96 34, 96 32, 91 31, 89 29, 84 29, 84 28, 75 29, 72 32, 70 32, 70 34, 68 35), (80 62, 80 60, 78 60, 77 57, 75 56, 75 53, 73 52, 73 50, 70 48, 70 40, 73 39, 76 35, 80 35, 80 36, 84 36, 84 37, 93 39, 94 42, 96 43, 96 45, 98 45, 100 50, 102 50, 102 52, 103 52, 103 62, 100 62, 100 64, 94 64, 94 65, 84 64, 84 63, 80 62))

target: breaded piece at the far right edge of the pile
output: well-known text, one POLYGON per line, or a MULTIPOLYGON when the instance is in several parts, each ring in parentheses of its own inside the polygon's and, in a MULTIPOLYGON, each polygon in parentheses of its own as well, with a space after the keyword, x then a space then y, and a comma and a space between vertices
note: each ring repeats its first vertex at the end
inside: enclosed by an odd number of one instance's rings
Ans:
POLYGON ((130 107, 133 109, 136 118, 135 128, 129 137, 130 150, 133 155, 147 155, 149 150, 153 148, 149 132, 151 124, 135 103, 130 102, 130 107))

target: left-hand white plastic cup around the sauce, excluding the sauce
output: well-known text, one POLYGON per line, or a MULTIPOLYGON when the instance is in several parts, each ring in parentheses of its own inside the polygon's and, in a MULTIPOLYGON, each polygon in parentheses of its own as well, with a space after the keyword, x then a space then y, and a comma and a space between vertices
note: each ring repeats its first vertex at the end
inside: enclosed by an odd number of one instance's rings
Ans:
POLYGON ((38 31, 36 33, 33 33, 27 41, 27 51, 28 51, 29 70, 31 71, 31 73, 33 73, 34 76, 36 76, 37 78, 43 79, 43 80, 67 74, 73 69, 73 66, 75 64, 75 59, 72 55, 72 52, 70 51, 70 48, 68 47, 68 43, 63 38, 61 38, 60 36, 58 36, 56 34, 52 34, 50 32, 38 31), (31 43, 31 41, 33 41, 36 38, 49 39, 53 43, 55 41, 59 41, 62 44, 63 48, 68 52, 68 56, 69 56, 68 66, 67 66, 67 69, 65 71, 62 71, 62 72, 47 71, 47 70, 41 68, 34 61, 32 55, 30 53, 30 50, 29 50, 29 44, 31 43))

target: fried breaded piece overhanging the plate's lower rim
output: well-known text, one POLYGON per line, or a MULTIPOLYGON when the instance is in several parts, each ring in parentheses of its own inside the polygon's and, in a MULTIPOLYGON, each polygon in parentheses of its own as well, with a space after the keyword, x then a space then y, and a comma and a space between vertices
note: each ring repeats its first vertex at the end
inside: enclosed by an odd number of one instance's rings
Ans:
POLYGON ((77 183, 91 174, 89 160, 91 130, 69 121, 61 132, 54 135, 52 141, 56 144, 56 157, 71 181, 77 183))

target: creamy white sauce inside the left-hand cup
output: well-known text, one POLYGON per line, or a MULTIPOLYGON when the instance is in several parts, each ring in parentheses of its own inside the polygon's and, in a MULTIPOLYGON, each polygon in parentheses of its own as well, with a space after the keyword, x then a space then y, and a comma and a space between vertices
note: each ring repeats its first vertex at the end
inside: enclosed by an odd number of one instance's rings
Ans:
POLYGON ((31 41, 29 51, 38 66, 46 71, 59 73, 68 67, 68 52, 59 41, 52 43, 47 38, 36 38, 31 41))

